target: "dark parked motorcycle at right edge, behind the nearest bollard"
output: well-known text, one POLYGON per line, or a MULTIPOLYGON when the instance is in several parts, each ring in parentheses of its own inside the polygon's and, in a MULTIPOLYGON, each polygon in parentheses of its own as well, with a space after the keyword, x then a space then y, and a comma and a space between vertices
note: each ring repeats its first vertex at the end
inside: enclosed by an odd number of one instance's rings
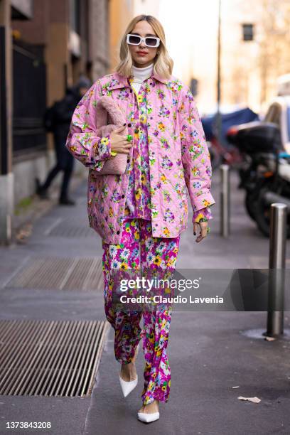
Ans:
MULTIPOLYGON (((245 207, 262 234, 269 236, 270 205, 286 203, 290 210, 290 155, 281 149, 279 127, 272 122, 249 122, 230 128, 227 140, 244 156, 240 187, 245 207)), ((288 214, 287 237, 290 237, 288 214)))

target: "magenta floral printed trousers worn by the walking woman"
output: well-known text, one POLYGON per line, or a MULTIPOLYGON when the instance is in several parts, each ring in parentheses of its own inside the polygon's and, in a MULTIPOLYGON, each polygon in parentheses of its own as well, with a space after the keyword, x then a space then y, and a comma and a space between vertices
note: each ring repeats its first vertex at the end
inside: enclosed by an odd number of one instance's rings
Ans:
POLYGON ((131 363, 136 346, 143 339, 145 358, 144 404, 154 399, 167 402, 171 370, 166 355, 171 321, 171 306, 160 304, 155 311, 117 311, 112 304, 112 269, 172 269, 176 265, 180 236, 152 237, 151 220, 125 218, 119 245, 102 242, 104 272, 104 308, 115 331, 114 353, 119 363, 131 363), (143 316, 143 329, 140 321, 143 316))

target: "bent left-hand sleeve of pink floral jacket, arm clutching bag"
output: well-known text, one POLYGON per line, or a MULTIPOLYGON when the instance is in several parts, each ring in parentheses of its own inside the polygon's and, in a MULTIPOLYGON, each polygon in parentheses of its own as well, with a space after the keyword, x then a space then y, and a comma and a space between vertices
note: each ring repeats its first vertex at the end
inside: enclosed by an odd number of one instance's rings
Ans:
POLYGON ((101 171, 104 161, 112 157, 109 134, 97 136, 95 107, 102 96, 97 80, 75 107, 65 146, 85 166, 101 171))

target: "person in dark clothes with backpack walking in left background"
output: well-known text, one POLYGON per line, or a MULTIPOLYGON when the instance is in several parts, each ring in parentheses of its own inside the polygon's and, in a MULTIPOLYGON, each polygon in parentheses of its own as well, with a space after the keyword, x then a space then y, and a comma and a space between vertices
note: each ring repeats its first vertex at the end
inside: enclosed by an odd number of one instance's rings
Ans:
POLYGON ((81 75, 77 85, 68 88, 65 97, 53 104, 45 112, 44 124, 47 131, 53 133, 56 163, 50 170, 43 184, 36 178, 36 193, 41 199, 48 199, 48 188, 55 176, 63 171, 63 181, 60 188, 59 203, 74 205, 75 201, 68 196, 68 186, 73 173, 75 159, 65 147, 65 142, 70 130, 70 122, 77 103, 85 95, 92 83, 90 79, 81 75))

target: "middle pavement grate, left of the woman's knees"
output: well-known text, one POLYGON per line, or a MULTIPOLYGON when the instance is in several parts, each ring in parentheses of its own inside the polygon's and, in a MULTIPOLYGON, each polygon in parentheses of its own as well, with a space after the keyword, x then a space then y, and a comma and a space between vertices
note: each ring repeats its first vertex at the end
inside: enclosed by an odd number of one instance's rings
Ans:
POLYGON ((21 289, 90 291, 104 288, 101 258, 47 257, 28 262, 6 284, 21 289))

